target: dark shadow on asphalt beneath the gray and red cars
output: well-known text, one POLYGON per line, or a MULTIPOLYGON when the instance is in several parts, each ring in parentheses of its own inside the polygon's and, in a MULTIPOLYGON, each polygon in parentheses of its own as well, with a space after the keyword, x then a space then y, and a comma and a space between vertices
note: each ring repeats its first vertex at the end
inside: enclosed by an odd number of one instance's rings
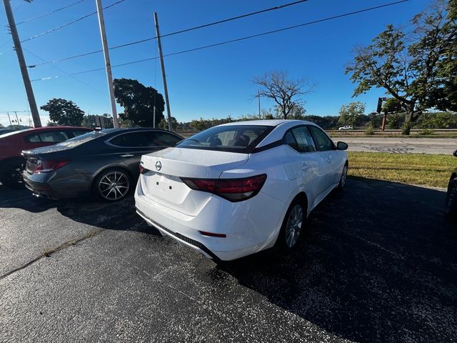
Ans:
POLYGON ((0 209, 18 208, 41 213, 56 209, 75 222, 111 230, 127 230, 159 235, 135 212, 134 197, 116 203, 98 202, 90 197, 50 200, 34 197, 28 189, 8 189, 0 185, 0 209))

